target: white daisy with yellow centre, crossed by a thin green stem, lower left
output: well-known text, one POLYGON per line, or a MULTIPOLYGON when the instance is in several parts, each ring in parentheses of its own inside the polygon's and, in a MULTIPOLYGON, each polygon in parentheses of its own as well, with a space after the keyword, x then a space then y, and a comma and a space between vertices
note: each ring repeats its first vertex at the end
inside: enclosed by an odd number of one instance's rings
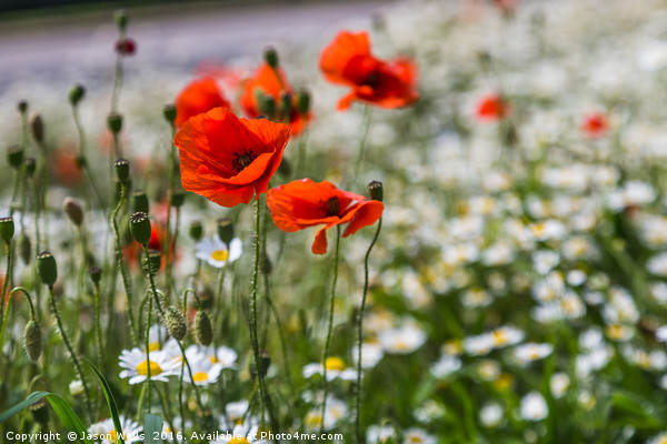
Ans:
POLYGON ((146 381, 150 365, 150 380, 167 382, 169 376, 180 374, 180 362, 162 351, 150 352, 150 362, 141 349, 123 350, 120 353, 120 377, 129 377, 130 384, 146 381))

